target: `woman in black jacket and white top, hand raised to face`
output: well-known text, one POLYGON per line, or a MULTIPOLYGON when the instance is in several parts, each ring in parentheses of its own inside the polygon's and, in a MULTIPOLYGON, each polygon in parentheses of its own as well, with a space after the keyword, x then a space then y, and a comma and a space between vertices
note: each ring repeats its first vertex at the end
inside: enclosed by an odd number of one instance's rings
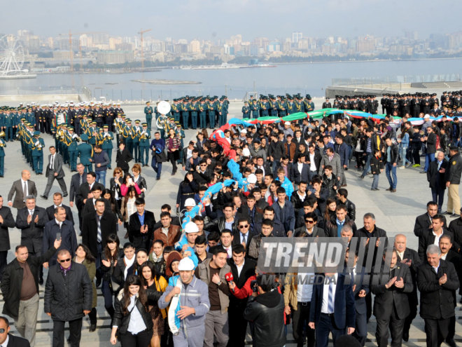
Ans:
POLYGON ((122 347, 147 347, 153 336, 153 319, 148 306, 157 305, 162 293, 145 290, 141 278, 129 275, 123 291, 116 297, 111 343, 122 347))

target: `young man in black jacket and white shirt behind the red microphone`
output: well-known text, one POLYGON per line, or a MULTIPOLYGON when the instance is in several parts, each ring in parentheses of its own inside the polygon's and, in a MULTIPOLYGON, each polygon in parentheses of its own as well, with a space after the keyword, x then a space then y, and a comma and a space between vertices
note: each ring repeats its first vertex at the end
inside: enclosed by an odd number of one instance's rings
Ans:
MULTIPOLYGON (((235 238, 236 239, 236 238, 235 238)), ((228 259, 228 265, 231 268, 232 283, 230 287, 230 306, 228 306, 228 322, 230 329, 229 346, 244 347, 246 339, 247 320, 242 319, 247 306, 248 297, 238 298, 234 295, 235 288, 241 289, 251 276, 255 275, 255 262, 246 259, 246 248, 244 245, 232 245, 232 259, 228 259)))

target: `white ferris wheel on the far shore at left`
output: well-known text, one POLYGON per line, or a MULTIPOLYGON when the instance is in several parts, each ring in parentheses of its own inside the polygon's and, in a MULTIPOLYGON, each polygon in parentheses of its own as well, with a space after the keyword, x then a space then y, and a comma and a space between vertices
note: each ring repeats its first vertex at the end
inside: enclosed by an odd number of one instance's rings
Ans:
POLYGON ((0 75, 19 74, 24 64, 24 48, 13 35, 0 39, 0 75))

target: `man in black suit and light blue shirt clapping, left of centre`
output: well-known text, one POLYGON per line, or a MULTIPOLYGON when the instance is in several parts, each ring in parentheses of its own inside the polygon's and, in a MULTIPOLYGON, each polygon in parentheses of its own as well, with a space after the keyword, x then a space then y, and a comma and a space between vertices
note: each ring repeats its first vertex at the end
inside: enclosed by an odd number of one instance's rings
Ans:
POLYGON ((144 209, 144 198, 137 198, 135 205, 137 212, 130 216, 128 238, 135 250, 144 248, 149 252, 153 242, 155 217, 153 212, 144 209))

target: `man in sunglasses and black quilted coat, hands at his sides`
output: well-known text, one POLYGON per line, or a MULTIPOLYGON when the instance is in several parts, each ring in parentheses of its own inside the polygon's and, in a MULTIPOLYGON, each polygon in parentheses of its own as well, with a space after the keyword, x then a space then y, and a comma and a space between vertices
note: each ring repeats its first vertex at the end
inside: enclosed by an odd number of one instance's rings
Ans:
POLYGON ((59 250, 58 264, 50 267, 43 308, 53 320, 52 346, 64 346, 64 324, 69 322, 70 345, 79 346, 83 315, 92 309, 92 284, 87 269, 72 261, 68 250, 59 250))

